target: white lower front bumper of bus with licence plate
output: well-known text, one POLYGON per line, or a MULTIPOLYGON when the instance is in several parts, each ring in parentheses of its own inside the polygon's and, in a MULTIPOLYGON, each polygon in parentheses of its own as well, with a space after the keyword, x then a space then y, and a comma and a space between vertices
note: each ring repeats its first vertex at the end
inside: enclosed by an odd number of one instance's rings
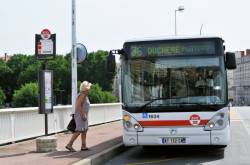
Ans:
POLYGON ((143 132, 124 130, 125 146, 136 145, 227 145, 230 130, 204 131, 203 127, 144 128, 143 132))

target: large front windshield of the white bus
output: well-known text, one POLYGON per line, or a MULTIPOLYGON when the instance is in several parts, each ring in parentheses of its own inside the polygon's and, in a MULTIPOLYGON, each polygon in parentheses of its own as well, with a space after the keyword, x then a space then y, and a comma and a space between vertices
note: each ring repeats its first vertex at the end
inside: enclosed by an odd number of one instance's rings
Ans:
POLYGON ((122 76, 127 107, 140 107, 154 99, 150 106, 155 108, 226 104, 223 56, 128 59, 122 76))

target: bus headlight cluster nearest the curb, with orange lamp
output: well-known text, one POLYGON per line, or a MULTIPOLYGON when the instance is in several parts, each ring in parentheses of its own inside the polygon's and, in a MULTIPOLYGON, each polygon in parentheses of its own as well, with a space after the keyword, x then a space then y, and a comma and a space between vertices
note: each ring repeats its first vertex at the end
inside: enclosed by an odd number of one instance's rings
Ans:
POLYGON ((142 132, 143 128, 142 126, 128 113, 125 113, 123 115, 123 127, 127 131, 137 131, 137 132, 142 132))

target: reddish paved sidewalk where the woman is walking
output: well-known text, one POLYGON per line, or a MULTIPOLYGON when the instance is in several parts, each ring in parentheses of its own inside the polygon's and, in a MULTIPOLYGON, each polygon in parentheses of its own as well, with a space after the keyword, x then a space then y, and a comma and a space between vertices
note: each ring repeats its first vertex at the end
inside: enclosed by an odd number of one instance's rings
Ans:
POLYGON ((57 137, 56 152, 36 153, 36 141, 29 140, 17 144, 0 146, 1 165, 68 165, 93 156, 122 142, 122 125, 120 121, 93 126, 87 134, 87 146, 90 150, 79 151, 80 137, 75 141, 74 148, 78 152, 68 152, 64 148, 71 134, 61 133, 57 137))

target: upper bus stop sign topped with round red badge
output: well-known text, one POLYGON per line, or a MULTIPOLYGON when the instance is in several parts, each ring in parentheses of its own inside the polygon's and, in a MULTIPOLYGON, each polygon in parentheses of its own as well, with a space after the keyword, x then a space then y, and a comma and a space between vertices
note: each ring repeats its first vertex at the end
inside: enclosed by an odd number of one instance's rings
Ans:
POLYGON ((56 55, 56 34, 43 29, 35 35, 35 55, 38 59, 52 59, 56 55))

